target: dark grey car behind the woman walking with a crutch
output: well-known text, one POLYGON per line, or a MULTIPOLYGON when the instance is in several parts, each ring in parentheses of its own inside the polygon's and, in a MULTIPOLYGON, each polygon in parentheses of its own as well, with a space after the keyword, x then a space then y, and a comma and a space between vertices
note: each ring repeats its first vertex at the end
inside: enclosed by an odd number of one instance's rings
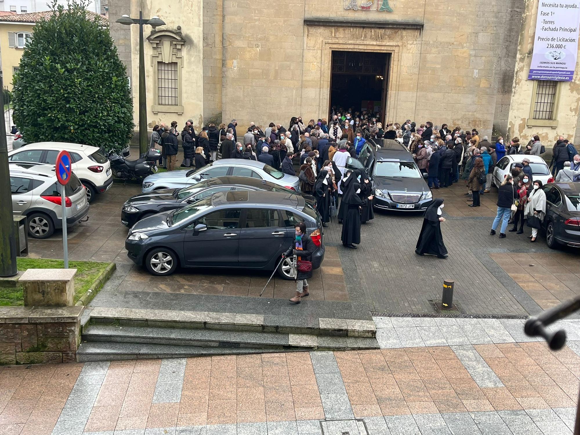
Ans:
MULTIPOLYGON (((316 245, 312 267, 318 269, 324 259, 322 222, 303 197, 286 193, 216 193, 140 220, 125 248, 133 262, 157 276, 170 275, 178 266, 273 270, 291 247, 299 222, 316 245)), ((293 279, 287 260, 278 273, 293 279)))

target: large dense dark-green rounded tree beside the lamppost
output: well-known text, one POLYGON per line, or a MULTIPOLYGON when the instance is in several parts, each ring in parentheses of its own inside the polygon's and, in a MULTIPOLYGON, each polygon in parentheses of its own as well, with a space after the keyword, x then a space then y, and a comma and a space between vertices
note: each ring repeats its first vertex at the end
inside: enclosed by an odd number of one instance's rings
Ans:
POLYGON ((120 150, 133 131, 124 64, 108 28, 84 0, 34 26, 14 74, 14 122, 28 143, 73 142, 120 150))

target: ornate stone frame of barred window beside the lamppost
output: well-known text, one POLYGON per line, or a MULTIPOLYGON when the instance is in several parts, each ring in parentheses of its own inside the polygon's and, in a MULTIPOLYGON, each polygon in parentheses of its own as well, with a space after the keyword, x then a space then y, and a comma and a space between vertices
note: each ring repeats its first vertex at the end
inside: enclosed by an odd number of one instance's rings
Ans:
POLYGON ((161 104, 152 104, 151 111, 154 115, 161 113, 176 113, 183 115, 183 45, 185 39, 180 32, 171 30, 153 31, 147 37, 151 43, 153 53, 151 54, 151 75, 153 77, 153 95, 154 102, 158 103, 159 95, 157 89, 157 63, 158 62, 175 62, 177 63, 177 104, 175 106, 165 106, 161 104))

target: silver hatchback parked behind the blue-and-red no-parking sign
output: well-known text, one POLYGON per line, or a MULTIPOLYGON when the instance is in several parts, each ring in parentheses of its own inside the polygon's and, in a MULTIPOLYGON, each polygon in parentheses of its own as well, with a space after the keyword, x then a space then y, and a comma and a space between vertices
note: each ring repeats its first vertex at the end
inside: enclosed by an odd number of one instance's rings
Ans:
MULTIPOLYGON (((28 235, 48 238, 63 227, 62 186, 51 165, 10 164, 10 193, 14 215, 27 216, 28 235)), ((66 226, 85 218, 89 212, 85 187, 74 173, 66 186, 66 226)))

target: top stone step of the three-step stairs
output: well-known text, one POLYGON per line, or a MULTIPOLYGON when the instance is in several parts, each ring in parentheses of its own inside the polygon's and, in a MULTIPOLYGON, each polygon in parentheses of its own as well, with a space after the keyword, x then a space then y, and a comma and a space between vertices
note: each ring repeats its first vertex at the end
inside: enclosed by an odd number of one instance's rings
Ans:
POLYGON ((209 313, 206 311, 147 310, 95 307, 90 323, 221 331, 279 332, 317 336, 374 338, 375 322, 339 318, 263 316, 261 314, 209 313))

